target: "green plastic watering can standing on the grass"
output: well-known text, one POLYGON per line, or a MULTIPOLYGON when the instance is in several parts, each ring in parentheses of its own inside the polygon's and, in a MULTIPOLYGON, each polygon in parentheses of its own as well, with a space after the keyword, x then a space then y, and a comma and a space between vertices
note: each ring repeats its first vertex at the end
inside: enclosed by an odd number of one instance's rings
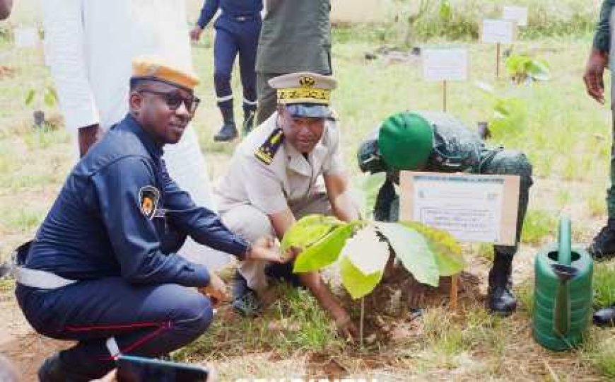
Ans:
POLYGON ((534 339, 561 351, 580 344, 592 316, 592 257, 570 244, 570 218, 559 221, 558 245, 549 245, 534 262, 534 339))

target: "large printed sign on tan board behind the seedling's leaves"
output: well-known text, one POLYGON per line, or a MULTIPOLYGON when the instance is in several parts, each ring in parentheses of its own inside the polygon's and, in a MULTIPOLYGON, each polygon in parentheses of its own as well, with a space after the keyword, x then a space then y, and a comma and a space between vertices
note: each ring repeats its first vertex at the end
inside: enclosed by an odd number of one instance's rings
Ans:
POLYGON ((516 175, 402 171, 399 218, 448 231, 459 241, 514 245, 516 175))

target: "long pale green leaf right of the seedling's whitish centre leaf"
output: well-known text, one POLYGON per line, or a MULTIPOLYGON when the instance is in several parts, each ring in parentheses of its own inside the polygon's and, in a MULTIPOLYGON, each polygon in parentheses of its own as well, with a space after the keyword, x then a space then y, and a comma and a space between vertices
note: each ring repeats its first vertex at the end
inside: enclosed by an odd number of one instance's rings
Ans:
POLYGON ((375 224, 416 281, 438 287, 440 271, 435 262, 435 253, 421 233, 397 223, 379 221, 375 224))

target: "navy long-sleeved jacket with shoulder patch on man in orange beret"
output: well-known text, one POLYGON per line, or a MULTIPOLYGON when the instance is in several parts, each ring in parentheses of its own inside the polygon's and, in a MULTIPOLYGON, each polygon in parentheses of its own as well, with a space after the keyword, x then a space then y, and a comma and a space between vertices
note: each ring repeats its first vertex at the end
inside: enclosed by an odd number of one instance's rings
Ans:
POLYGON ((113 127, 67 178, 26 267, 69 279, 122 276, 133 283, 205 286, 204 265, 161 250, 169 225, 241 258, 247 242, 177 187, 162 154, 130 115, 113 127), (143 204, 144 191, 152 190, 158 196, 143 204))

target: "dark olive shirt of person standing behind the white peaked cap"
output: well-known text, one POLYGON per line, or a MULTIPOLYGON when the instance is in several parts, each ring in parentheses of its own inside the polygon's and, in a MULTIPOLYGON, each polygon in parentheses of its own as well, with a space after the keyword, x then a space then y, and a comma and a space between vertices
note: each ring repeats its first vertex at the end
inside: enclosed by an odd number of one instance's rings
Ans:
POLYGON ((329 0, 270 0, 257 50, 256 71, 330 74, 329 0))

